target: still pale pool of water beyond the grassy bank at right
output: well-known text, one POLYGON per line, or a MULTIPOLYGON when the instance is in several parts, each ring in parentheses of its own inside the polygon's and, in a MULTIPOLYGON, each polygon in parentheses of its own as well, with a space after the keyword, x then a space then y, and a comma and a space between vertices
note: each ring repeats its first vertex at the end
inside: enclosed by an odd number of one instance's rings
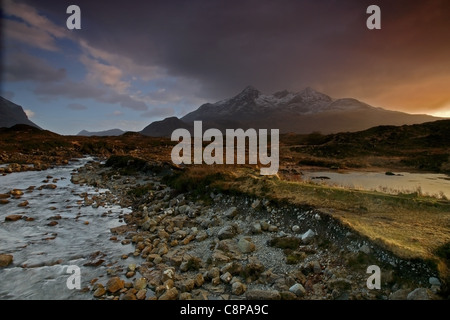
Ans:
POLYGON ((423 195, 450 198, 450 176, 445 174, 398 172, 386 175, 384 172, 315 171, 303 172, 303 179, 363 190, 394 194, 420 192, 423 195))

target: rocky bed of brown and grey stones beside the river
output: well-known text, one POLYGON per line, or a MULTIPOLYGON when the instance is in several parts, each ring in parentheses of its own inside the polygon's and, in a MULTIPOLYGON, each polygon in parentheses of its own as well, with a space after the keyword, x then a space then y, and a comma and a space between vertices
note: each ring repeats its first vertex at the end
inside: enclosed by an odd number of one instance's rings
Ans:
MULTIPOLYGON (((158 172, 170 173, 170 168, 158 172)), ((98 162, 75 184, 108 189, 132 212, 110 241, 133 245, 90 281, 96 299, 440 299, 437 273, 393 256, 315 208, 209 190, 202 199, 162 182, 163 173, 121 175, 98 162), (367 267, 381 269, 369 289, 367 267)), ((87 205, 102 205, 86 195, 87 205)))

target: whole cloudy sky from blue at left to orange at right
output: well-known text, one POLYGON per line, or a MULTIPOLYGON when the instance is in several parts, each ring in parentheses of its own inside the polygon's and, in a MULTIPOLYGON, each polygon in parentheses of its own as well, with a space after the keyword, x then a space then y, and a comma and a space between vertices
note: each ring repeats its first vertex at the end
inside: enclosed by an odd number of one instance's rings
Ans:
POLYGON ((140 131, 248 85, 450 117, 448 0, 3 0, 1 30, 0 94, 59 134, 140 131))

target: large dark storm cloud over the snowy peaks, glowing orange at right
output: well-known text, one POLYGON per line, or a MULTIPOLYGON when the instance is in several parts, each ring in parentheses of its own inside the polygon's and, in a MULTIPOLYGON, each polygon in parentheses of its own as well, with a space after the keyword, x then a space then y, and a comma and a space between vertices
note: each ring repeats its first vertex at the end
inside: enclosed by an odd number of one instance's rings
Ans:
MULTIPOLYGON (((39 8, 65 23, 69 4, 44 0, 39 8)), ((425 78, 437 83, 450 71, 446 0, 79 0, 77 5, 82 12, 77 36, 136 64, 195 79, 199 96, 212 101, 248 84, 267 93, 312 86, 337 97, 382 97, 393 85, 425 78), (374 3, 381 7, 382 29, 370 31, 366 8, 374 3)), ((442 94, 443 88, 434 90, 442 94)))

